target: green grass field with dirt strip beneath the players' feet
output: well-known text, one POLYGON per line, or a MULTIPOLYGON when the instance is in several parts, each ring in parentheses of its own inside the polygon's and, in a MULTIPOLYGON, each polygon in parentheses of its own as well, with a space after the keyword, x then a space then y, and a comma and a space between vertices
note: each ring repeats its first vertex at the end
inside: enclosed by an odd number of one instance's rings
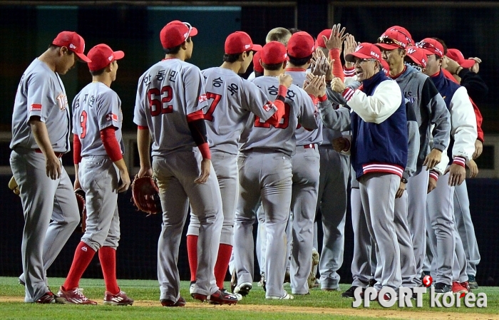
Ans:
MULTIPOLYGON (((64 279, 51 278, 53 291, 64 279)), ((354 309, 351 299, 341 297, 341 292, 324 292, 314 289, 307 296, 295 296, 290 301, 269 301, 264 291, 255 283, 250 294, 235 306, 212 306, 195 301, 189 295, 189 283, 182 282, 181 295, 187 300, 184 308, 163 308, 159 302, 158 282, 154 280, 120 280, 123 291, 135 299, 134 306, 104 306, 103 280, 82 279, 80 286, 88 298, 98 301, 98 306, 78 306, 73 304, 40 305, 25 304, 24 287, 17 278, 0 277, 0 319, 499 319, 499 288, 480 287, 475 293, 484 292, 488 296, 486 308, 431 308, 428 294, 423 299, 422 308, 386 309, 377 302, 369 309, 354 309)), ((229 284, 226 284, 229 286, 229 284)), ((289 284, 284 286, 289 292, 289 284)), ((349 285, 341 285, 345 290, 349 285)))

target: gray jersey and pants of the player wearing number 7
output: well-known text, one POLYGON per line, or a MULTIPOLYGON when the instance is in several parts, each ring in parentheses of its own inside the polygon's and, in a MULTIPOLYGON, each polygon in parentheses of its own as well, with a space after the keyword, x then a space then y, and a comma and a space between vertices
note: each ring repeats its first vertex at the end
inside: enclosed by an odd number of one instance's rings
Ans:
MULTIPOLYGON (((205 113, 205 120, 224 212, 220 243, 232 245, 239 188, 237 144, 249 113, 267 120, 277 107, 269 102, 265 93, 254 83, 241 78, 232 70, 208 68, 202 71, 202 76, 205 78, 206 96, 211 102, 205 113)), ((197 235, 199 227, 197 217, 191 216, 187 235, 197 235)))

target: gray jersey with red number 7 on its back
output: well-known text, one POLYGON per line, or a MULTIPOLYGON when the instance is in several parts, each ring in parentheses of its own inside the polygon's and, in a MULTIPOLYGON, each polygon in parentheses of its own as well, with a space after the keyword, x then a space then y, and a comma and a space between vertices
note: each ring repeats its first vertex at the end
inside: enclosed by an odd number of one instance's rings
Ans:
POLYGON ((206 97, 210 100, 210 108, 205 113, 210 149, 237 154, 237 143, 249 113, 267 120, 274 113, 272 105, 254 83, 230 69, 208 68, 202 75, 206 97))

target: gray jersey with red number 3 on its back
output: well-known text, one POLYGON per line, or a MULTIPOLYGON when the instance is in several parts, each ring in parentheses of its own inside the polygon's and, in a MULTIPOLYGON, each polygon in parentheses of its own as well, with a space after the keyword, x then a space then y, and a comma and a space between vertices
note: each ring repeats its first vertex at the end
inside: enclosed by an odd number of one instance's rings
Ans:
POLYGON ((122 124, 121 100, 104 83, 88 83, 74 98, 73 133, 80 138, 82 157, 108 154, 101 140, 101 130, 111 125, 123 153, 122 124))

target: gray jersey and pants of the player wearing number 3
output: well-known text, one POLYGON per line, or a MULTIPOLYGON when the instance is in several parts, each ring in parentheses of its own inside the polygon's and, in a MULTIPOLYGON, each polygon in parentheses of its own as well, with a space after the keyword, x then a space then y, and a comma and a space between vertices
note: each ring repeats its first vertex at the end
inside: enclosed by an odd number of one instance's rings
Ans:
POLYGON ((121 101, 101 82, 89 83, 73 100, 73 133, 81 141, 78 177, 86 192, 87 224, 81 237, 92 249, 118 247, 120 217, 118 215, 119 171, 104 149, 101 130, 113 126, 123 153, 121 101))

